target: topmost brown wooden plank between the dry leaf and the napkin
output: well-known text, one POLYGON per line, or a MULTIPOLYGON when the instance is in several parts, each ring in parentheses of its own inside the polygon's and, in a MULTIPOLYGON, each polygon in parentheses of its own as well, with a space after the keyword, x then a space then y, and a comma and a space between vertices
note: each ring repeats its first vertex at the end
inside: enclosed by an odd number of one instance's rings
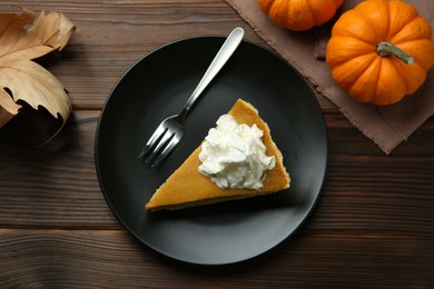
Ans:
MULTIPOLYGON (((249 41, 260 41, 220 0, 21 1, 21 6, 37 13, 59 10, 76 23, 77 31, 62 52, 38 60, 63 83, 76 109, 101 109, 130 66, 172 41, 227 36, 236 26, 245 28, 249 41)), ((20 12, 16 1, 2 1, 2 8, 20 12)))

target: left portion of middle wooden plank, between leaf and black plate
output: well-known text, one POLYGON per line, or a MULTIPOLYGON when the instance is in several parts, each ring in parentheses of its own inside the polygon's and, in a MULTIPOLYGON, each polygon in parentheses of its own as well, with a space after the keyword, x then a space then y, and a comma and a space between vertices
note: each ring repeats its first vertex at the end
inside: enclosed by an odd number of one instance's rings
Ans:
POLYGON ((0 226, 118 228, 96 176, 98 117, 99 111, 76 111, 41 148, 42 123, 51 123, 34 121, 39 116, 17 117, 0 131, 0 226))

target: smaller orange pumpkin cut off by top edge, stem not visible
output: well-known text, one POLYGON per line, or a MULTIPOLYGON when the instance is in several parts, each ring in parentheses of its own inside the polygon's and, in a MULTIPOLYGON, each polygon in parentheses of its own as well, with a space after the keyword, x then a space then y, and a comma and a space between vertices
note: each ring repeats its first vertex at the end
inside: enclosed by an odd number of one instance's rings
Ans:
POLYGON ((258 0, 260 9, 279 27, 308 30, 331 20, 344 0, 258 0))

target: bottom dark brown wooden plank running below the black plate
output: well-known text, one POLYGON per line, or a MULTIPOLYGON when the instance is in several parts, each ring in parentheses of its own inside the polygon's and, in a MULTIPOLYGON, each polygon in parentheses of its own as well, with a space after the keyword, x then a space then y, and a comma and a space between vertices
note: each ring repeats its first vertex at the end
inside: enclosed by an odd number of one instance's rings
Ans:
POLYGON ((8 267, 0 282, 8 288, 428 288, 433 241, 434 236, 299 232, 259 258, 216 268, 162 258, 118 230, 3 229, 0 259, 8 267))

